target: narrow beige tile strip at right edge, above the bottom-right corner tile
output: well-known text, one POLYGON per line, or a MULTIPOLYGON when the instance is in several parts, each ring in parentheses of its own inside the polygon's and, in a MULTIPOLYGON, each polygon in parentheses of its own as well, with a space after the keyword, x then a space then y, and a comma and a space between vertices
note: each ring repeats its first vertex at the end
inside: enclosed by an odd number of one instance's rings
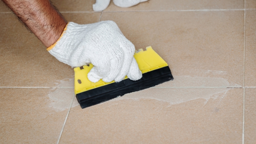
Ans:
POLYGON ((256 10, 246 11, 245 86, 256 86, 256 10))

